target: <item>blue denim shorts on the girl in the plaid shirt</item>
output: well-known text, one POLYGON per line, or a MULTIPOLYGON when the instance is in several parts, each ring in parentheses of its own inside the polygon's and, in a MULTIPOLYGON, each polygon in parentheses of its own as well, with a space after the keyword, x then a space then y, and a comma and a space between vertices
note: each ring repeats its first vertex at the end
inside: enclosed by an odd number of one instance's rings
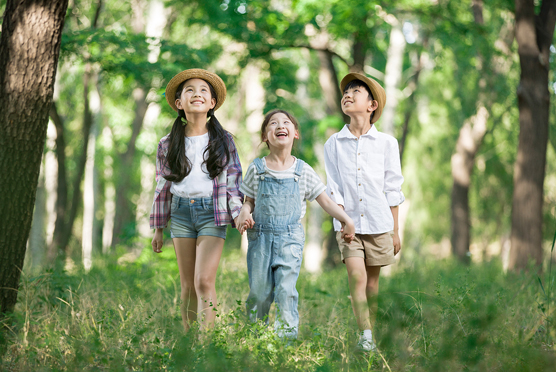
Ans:
POLYGON ((172 195, 170 233, 172 238, 216 236, 226 239, 227 226, 214 223, 214 202, 208 198, 181 198, 172 195))

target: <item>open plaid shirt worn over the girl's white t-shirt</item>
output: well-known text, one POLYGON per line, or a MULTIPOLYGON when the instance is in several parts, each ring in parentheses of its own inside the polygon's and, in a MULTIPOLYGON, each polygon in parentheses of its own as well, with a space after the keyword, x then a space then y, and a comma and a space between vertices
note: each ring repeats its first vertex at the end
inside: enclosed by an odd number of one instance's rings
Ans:
MULTIPOLYGON (((243 204, 243 194, 239 191, 241 184, 241 164, 232 135, 227 133, 228 147, 230 149, 230 161, 224 170, 212 180, 212 198, 214 200, 214 222, 216 226, 232 224, 235 227, 234 218, 239 215, 243 204)), ((156 190, 151 208, 151 229, 165 228, 170 220, 170 208, 172 205, 171 181, 164 176, 171 174, 166 160, 168 147, 170 146, 170 135, 163 137, 158 143, 156 152, 156 190)))

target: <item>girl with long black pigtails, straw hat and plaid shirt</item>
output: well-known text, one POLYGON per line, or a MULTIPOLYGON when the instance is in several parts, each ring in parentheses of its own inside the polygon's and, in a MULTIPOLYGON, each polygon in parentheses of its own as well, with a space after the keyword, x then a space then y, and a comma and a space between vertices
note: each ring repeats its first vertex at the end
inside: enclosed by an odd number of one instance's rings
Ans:
POLYGON ((150 226, 153 251, 160 253, 163 229, 172 221, 186 331, 193 321, 201 329, 214 324, 226 227, 234 225, 243 203, 236 146, 214 115, 225 99, 222 79, 202 69, 182 71, 166 87, 166 100, 178 117, 158 144, 150 226))

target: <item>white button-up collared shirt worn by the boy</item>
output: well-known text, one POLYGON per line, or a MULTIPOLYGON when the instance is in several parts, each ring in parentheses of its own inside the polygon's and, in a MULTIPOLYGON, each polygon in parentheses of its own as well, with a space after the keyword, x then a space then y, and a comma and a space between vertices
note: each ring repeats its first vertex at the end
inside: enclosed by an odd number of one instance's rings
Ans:
MULTIPOLYGON (((405 200, 398 141, 371 129, 357 138, 345 125, 324 145, 326 192, 343 205, 357 234, 382 234, 394 229, 390 207, 405 200)), ((341 224, 334 219, 334 230, 341 224)))

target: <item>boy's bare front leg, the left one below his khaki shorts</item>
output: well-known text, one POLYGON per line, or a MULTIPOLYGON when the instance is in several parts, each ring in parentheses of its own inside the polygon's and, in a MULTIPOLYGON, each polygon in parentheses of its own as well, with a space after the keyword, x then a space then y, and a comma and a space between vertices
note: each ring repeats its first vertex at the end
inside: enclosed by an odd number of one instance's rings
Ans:
POLYGON ((349 290, 351 293, 351 306, 359 330, 371 329, 369 304, 367 302, 367 270, 365 260, 361 257, 348 257, 345 259, 348 272, 349 290))

